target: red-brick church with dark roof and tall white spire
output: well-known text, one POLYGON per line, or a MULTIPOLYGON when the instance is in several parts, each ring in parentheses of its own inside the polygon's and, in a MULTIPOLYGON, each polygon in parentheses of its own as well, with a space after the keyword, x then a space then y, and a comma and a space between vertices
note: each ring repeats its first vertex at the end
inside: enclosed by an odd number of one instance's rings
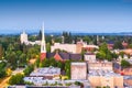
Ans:
POLYGON ((42 26, 42 42, 41 42, 41 61, 50 59, 54 57, 56 61, 81 61, 81 54, 73 54, 73 53, 63 53, 63 52, 55 52, 55 53, 46 53, 46 43, 45 43, 45 34, 44 34, 44 23, 42 26))

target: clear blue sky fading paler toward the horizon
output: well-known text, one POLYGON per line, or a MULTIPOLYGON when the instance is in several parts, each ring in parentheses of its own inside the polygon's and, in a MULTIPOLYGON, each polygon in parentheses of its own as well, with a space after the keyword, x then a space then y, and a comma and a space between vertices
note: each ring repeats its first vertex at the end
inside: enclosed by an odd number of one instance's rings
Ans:
POLYGON ((132 0, 0 0, 0 33, 132 32, 132 0))

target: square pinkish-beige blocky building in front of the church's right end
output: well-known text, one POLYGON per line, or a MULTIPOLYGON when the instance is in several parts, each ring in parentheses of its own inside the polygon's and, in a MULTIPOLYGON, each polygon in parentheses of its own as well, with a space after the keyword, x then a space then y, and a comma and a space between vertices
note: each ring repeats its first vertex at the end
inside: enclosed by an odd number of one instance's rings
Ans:
POLYGON ((87 64, 72 63, 70 65, 72 79, 87 79, 87 64))

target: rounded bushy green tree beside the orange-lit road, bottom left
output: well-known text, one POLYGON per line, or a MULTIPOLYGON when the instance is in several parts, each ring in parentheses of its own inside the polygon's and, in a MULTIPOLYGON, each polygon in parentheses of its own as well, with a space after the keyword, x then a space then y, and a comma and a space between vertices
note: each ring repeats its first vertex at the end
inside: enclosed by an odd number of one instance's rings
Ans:
POLYGON ((11 76, 11 78, 9 79, 9 84, 10 85, 21 85, 24 82, 23 80, 24 76, 22 74, 16 74, 11 76))

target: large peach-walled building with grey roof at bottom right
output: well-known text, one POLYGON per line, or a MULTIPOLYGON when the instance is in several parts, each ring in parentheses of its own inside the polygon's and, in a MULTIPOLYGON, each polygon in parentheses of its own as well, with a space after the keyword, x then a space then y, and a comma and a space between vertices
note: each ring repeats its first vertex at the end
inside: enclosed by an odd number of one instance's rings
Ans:
POLYGON ((123 76, 111 70, 89 70, 88 80, 92 88, 106 86, 123 88, 123 76))

